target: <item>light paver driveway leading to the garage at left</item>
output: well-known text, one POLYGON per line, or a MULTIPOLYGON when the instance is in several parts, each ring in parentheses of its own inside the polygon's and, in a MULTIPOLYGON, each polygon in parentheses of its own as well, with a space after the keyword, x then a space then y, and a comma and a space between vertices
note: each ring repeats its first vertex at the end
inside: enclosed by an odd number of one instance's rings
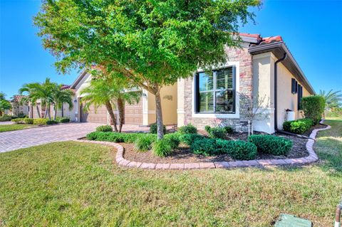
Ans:
POLYGON ((32 147, 49 142, 78 139, 86 136, 89 132, 95 131, 95 128, 99 125, 101 124, 88 122, 68 123, 11 132, 0 132, 0 152, 9 152, 14 149, 32 147))

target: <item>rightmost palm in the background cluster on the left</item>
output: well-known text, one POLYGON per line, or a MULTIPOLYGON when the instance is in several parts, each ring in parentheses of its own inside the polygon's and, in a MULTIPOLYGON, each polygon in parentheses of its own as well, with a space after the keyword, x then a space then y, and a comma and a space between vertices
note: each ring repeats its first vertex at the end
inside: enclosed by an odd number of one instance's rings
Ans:
POLYGON ((60 109, 63 115, 63 104, 68 103, 69 110, 73 109, 73 91, 69 89, 62 90, 63 85, 56 85, 52 91, 52 102, 53 102, 53 120, 56 120, 57 110, 60 109))

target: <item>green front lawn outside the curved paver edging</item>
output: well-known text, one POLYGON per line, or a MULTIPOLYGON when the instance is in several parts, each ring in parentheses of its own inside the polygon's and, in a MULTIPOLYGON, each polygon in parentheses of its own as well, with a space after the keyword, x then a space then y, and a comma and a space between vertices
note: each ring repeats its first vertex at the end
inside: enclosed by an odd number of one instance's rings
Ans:
POLYGON ((57 142, 0 154, 0 226, 272 226, 280 213, 332 226, 342 191, 342 121, 301 168, 149 171, 110 147, 57 142))

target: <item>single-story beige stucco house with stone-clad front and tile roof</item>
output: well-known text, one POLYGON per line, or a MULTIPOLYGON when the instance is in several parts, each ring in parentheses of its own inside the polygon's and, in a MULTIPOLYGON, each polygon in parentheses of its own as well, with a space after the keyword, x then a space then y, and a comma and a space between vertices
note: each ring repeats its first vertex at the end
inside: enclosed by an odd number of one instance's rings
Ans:
MULTIPOLYGON (((191 123, 203 129, 205 125, 224 124, 247 131, 246 110, 257 97, 264 100, 259 109, 264 117, 254 120, 256 131, 271 134, 282 129, 286 110, 292 110, 295 119, 303 117, 299 101, 315 91, 281 36, 263 38, 240 33, 240 37, 241 48, 227 47, 227 62, 212 73, 198 69, 192 77, 162 88, 165 125, 180 127, 191 123)), ((71 120, 108 124, 110 117, 105 107, 83 111, 81 90, 90 80, 91 75, 83 71, 70 87, 76 95, 71 120)), ((146 90, 142 90, 140 102, 125 105, 125 124, 150 125, 155 119, 155 97, 146 90)))

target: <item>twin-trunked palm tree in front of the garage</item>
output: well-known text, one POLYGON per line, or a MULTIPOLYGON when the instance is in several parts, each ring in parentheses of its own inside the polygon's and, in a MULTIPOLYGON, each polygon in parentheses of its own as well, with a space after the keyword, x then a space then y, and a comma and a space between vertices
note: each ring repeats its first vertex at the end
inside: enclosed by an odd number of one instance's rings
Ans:
POLYGON ((81 94, 85 95, 82 98, 86 102, 85 109, 89 109, 90 105, 94 105, 95 109, 100 107, 100 105, 105 105, 115 132, 121 132, 123 122, 125 121, 125 102, 132 104, 140 99, 140 92, 125 92, 125 88, 128 88, 128 84, 125 83, 124 79, 120 80, 113 76, 94 78, 91 80, 89 87, 81 91, 81 94), (119 129, 116 125, 113 106, 118 107, 119 129))

